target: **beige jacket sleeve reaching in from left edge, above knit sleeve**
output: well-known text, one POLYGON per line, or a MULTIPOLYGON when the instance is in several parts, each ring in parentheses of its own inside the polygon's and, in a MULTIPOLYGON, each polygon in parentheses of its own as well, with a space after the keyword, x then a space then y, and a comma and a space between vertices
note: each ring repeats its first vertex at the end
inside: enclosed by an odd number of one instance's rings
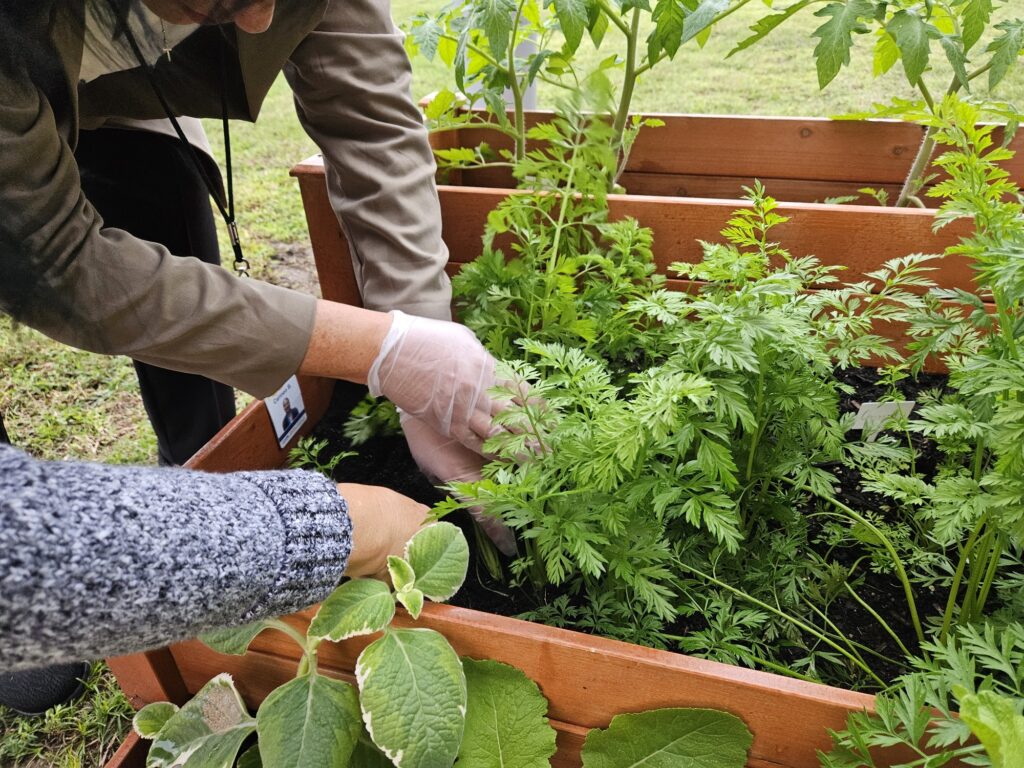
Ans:
POLYGON ((104 227, 50 104, 0 69, 0 309, 83 349, 265 396, 298 369, 315 301, 104 227))

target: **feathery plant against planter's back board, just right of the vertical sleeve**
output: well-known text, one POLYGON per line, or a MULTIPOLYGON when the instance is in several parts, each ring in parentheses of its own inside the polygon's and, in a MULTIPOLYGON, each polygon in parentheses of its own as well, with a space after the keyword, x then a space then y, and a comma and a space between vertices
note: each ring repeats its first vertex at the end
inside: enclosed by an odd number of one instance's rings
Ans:
POLYGON ((519 338, 624 359, 640 352, 624 307, 665 281, 654 273, 650 231, 608 220, 609 131, 579 111, 532 128, 545 146, 516 166, 524 193, 488 215, 483 253, 453 280, 460 318, 495 354, 514 355, 519 338))

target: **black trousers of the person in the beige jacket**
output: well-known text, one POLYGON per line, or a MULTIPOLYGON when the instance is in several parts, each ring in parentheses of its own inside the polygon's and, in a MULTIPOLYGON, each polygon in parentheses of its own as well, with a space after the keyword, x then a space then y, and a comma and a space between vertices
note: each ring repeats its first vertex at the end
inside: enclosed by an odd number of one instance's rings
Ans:
MULTIPOLYGON (((220 263, 207 188, 176 138, 147 131, 82 131, 82 189, 103 218, 176 256, 220 263)), ((135 362, 161 464, 184 464, 234 416, 231 388, 202 376, 135 362)))

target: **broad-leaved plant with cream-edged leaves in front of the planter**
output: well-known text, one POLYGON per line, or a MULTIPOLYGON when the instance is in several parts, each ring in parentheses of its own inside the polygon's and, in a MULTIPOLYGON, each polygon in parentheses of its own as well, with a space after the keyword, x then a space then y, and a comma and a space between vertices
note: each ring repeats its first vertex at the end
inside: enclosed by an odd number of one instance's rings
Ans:
MULTIPOLYGON (((134 726, 154 741, 146 766, 550 766, 555 730, 536 683, 498 662, 460 660, 433 630, 389 627, 396 603, 417 618, 424 597, 451 598, 468 563, 458 528, 436 523, 410 541, 406 557, 389 558, 394 591, 373 580, 346 582, 321 605, 304 636, 281 620, 205 636, 215 650, 242 654, 261 632, 283 632, 302 650, 298 675, 273 690, 255 717, 228 675, 213 678, 180 709, 144 707, 134 726), (356 662, 357 687, 318 672, 325 640, 379 632, 356 662), (253 734, 257 742, 239 756, 253 734)), ((588 734, 583 764, 625 768, 663 755, 707 768, 740 768, 751 740, 738 718, 712 710, 622 715, 606 731, 588 734)))

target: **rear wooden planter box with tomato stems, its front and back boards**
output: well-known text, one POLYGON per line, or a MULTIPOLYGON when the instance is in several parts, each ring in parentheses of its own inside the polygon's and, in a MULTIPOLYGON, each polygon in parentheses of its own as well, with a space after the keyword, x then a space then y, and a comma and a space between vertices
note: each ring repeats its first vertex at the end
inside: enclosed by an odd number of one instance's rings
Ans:
MULTIPOLYGON (((527 125, 550 113, 527 113, 527 125)), ((933 231, 935 214, 920 208, 871 205, 829 205, 828 197, 856 195, 861 187, 898 195, 922 138, 919 126, 888 120, 844 121, 824 118, 728 117, 654 115, 660 128, 640 132, 622 182, 628 195, 608 198, 612 218, 631 216, 653 230, 657 270, 668 274, 676 261, 699 261, 699 241, 719 242, 731 213, 746 204, 742 186, 760 179, 780 202, 778 213, 790 220, 773 237, 794 256, 816 256, 823 264, 842 266, 843 282, 854 283, 886 261, 914 253, 942 253, 969 232, 966 222, 933 231)), ((434 148, 511 146, 508 137, 485 128, 464 128, 432 134, 434 148)), ((1012 147, 1017 156, 1006 164, 1024 184, 1024 134, 1012 147)), ((325 297, 358 301, 358 292, 337 269, 348 263, 348 246, 324 189, 318 157, 293 169, 302 189, 309 234, 325 297)), ((480 253, 480 237, 487 214, 511 190, 505 169, 455 171, 437 190, 444 242, 450 252, 447 270, 480 253)), ((930 205, 938 201, 922 196, 930 205)), ((502 245, 501 239, 498 240, 502 245)), ((966 257, 934 262, 930 278, 939 288, 973 290, 973 273, 966 257)), ((690 284, 669 280, 685 290, 690 284)), ((994 306, 988 306, 994 312, 994 306)), ((876 332, 905 341, 903 329, 885 324, 876 332)), ((926 370, 940 371, 930 362, 926 370)))

